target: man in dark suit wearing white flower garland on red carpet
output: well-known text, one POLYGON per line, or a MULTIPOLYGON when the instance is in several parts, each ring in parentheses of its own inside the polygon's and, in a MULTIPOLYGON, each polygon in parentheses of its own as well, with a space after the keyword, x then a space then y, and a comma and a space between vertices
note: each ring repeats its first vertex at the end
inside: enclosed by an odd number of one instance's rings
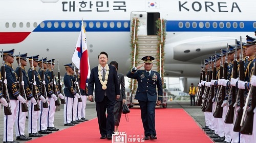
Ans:
POLYGON ((108 54, 100 52, 98 55, 99 65, 91 70, 88 82, 88 99, 92 101, 95 84, 95 102, 98 117, 99 131, 101 139, 112 139, 114 133, 114 105, 115 100, 120 98, 120 89, 116 68, 109 66, 108 54), (105 112, 108 116, 106 117, 105 112))

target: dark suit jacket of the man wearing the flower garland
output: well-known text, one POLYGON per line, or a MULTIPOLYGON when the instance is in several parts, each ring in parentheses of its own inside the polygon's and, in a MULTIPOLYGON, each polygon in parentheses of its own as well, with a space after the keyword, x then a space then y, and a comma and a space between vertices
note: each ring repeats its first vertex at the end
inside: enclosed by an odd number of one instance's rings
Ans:
POLYGON ((114 66, 109 66, 109 78, 106 84, 106 89, 102 89, 102 85, 99 80, 98 66, 91 70, 90 79, 88 82, 88 95, 93 95, 93 89, 95 94, 95 102, 101 102, 104 99, 104 93, 110 101, 116 100, 116 95, 120 95, 120 88, 118 86, 117 72, 114 66))

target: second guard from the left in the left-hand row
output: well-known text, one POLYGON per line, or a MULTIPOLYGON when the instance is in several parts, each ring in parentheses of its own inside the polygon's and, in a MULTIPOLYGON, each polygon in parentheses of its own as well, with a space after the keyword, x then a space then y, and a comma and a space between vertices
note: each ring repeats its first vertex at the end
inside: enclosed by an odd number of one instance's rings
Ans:
MULTIPOLYGON (((28 78, 28 74, 27 71, 25 70, 25 66, 27 65, 27 53, 26 54, 20 54, 20 55, 16 55, 16 60, 18 63, 18 67, 15 70, 15 73, 17 74, 18 79, 22 79, 22 83, 19 84, 19 86, 23 86, 23 87, 19 87, 19 89, 22 89, 21 91, 19 91, 20 93, 23 92, 23 95, 26 96, 27 100, 31 100, 34 103, 36 103, 35 99, 33 98, 33 94, 31 92, 31 89, 29 87, 29 78, 28 78), (21 69, 21 74, 20 74, 20 69, 21 69)), ((26 100, 26 106, 28 106, 28 101, 26 100)), ((22 103, 19 102, 19 106, 17 109, 17 116, 16 120, 15 120, 15 125, 16 125, 16 140, 30 140, 32 139, 32 137, 27 137, 24 133, 25 131, 25 122, 26 122, 26 115, 27 112, 23 112, 22 111, 22 103)))

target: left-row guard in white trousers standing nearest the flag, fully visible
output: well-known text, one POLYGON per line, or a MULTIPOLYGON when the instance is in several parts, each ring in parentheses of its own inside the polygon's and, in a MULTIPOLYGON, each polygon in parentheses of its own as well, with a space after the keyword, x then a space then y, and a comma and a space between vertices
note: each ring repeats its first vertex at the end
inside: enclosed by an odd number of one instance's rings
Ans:
MULTIPOLYGON (((74 66, 72 66, 72 63, 65 64, 64 65, 66 68, 66 73, 63 79, 65 88, 65 98, 66 98, 66 104, 64 105, 64 126, 74 126, 75 123, 79 122, 74 122, 72 121, 72 116, 75 116, 72 107, 74 98, 80 98, 79 94, 76 93, 74 84, 75 84, 75 78, 74 78, 74 66)), ((77 102, 77 101, 76 101, 77 102)))

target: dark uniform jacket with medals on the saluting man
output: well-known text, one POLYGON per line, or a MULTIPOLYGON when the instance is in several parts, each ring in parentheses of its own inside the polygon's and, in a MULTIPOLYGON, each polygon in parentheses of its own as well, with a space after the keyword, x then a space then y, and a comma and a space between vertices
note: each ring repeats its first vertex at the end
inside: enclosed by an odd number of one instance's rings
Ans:
POLYGON ((138 81, 138 88, 135 99, 144 101, 157 101, 163 98, 162 80, 157 71, 151 71, 150 76, 147 76, 146 70, 135 70, 134 68, 126 75, 128 78, 138 81), (157 92, 156 92, 157 87, 157 92), (158 96, 157 96, 158 93, 158 96))

